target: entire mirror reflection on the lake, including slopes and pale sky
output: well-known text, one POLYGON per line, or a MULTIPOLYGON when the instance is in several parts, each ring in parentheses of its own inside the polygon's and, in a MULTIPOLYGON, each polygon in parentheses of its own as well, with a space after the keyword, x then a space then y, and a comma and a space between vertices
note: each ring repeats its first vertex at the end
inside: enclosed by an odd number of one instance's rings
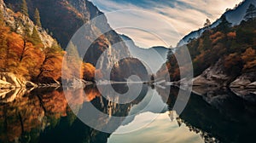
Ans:
MULTIPOLYGON (((122 90, 125 85, 113 85, 122 90)), ((17 89, 0 94, 0 142, 253 142, 256 130, 256 106, 229 89, 194 89, 188 105, 179 116, 173 111, 178 89, 151 89, 144 86, 136 100, 115 104, 102 97, 98 88, 17 89), (84 94, 85 93, 85 94, 84 94), (168 94, 170 93, 170 94, 168 94), (73 99, 68 105, 66 98, 73 99), (154 100, 154 106, 148 105, 154 100), (167 100, 166 103, 163 100, 167 100), (113 124, 115 133, 106 134, 84 125, 71 108, 83 112, 92 103, 108 117, 123 117, 113 124), (71 107, 73 106, 73 107, 71 107), (159 106, 166 106, 161 112, 159 106), (143 109, 143 112, 141 111, 143 109), (132 116, 134 115, 134 116, 132 116), (129 117, 126 117, 129 116, 129 117), (134 132, 138 123, 155 120, 134 132), (119 132, 126 134, 118 134, 119 132)), ((119 91, 122 92, 122 91, 119 91)), ((108 93, 111 94, 111 93, 108 93)), ((102 123, 111 122, 102 118, 102 123)), ((98 123, 99 126, 102 123, 98 123)))

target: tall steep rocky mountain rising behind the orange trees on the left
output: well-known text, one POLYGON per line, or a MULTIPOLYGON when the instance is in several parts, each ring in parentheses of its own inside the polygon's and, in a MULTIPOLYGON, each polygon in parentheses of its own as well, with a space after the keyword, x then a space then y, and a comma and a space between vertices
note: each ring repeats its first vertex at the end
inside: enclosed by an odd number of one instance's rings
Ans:
MULTIPOLYGON (((20 12, 22 1, 4 0, 4 2, 10 9, 20 12)), ((131 74, 133 67, 142 66, 139 60, 131 59, 130 51, 123 39, 112 30, 105 15, 93 3, 87 0, 26 0, 26 3, 28 15, 32 20, 34 20, 35 9, 38 9, 43 28, 55 37, 62 49, 72 45, 84 62, 103 70, 100 71, 103 78, 108 78, 108 72, 113 66, 116 72, 122 71, 127 74, 131 74), (98 16, 100 19, 95 20, 98 16), (85 23, 89 24, 88 27, 79 29, 85 23), (83 32, 77 32, 78 30, 83 32), (75 39, 73 37, 75 33, 82 35, 75 39), (70 43, 71 39, 72 43, 70 43), (85 45, 89 48, 83 55, 85 45), (116 64, 123 58, 127 58, 123 61, 127 65, 125 66, 127 70, 117 70, 116 64)), ((71 68, 68 66, 67 69, 71 68)), ((85 72, 88 71, 91 72, 91 70, 85 70, 85 72)), ((79 70, 77 72, 79 73, 79 70)), ((140 76, 144 75, 144 72, 140 73, 137 70, 136 74, 140 76)))

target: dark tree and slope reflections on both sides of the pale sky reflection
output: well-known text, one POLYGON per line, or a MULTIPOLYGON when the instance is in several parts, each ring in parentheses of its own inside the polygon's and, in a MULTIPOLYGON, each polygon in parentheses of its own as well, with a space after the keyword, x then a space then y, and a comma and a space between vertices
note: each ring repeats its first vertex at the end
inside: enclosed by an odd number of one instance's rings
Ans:
MULTIPOLYGON (((0 142, 107 142, 110 134, 91 129, 82 123, 71 111, 66 98, 73 100, 78 112, 84 104, 90 102, 108 115, 127 116, 131 114, 132 106, 141 103, 148 88, 145 86, 136 100, 125 105, 106 100, 94 86, 67 92, 66 97, 62 89, 2 92, 0 142)), ((122 87, 113 85, 113 89, 122 90, 122 87)), ((162 100, 167 99, 166 104, 172 111, 178 89, 155 87, 155 90, 162 100), (170 94, 167 90, 170 90, 170 94)), ((203 94, 191 94, 188 105, 179 117, 173 120, 170 112, 173 121, 178 125, 186 125, 195 134, 201 134, 206 142, 253 141, 256 129, 255 103, 247 102, 227 89, 211 89, 207 92, 196 89, 196 93, 203 94)), ((128 121, 132 122, 133 118, 128 121)))

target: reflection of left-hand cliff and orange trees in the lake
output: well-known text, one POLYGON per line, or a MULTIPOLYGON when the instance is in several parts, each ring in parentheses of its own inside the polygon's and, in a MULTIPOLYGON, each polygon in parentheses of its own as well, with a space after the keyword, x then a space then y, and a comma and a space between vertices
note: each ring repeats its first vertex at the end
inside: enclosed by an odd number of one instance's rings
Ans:
MULTIPOLYGON (((84 125, 73 114, 66 98, 72 98, 73 103, 69 104, 78 106, 78 112, 83 109, 83 104, 91 102, 98 110, 109 116, 126 116, 131 106, 139 102, 137 99, 127 105, 113 104, 102 97, 99 90, 93 86, 85 89, 67 90, 66 94, 62 89, 34 89, 32 91, 22 89, 22 92, 20 90, 2 92, 4 95, 1 96, 3 99, 0 105, 0 142, 68 142, 67 140, 78 140, 79 142, 104 140, 106 142, 109 134, 100 133, 84 125), (80 139, 77 139, 77 135, 83 134, 83 132, 78 134, 65 133, 65 130, 76 133, 76 130, 79 129, 82 129, 86 134, 85 138, 82 135, 80 139), (96 139, 99 134, 103 138, 96 139)), ((143 91, 141 96, 146 93, 145 90, 143 91)), ((104 122, 106 121, 102 121, 102 123, 104 122)), ((116 128, 118 125, 117 123, 116 128)))

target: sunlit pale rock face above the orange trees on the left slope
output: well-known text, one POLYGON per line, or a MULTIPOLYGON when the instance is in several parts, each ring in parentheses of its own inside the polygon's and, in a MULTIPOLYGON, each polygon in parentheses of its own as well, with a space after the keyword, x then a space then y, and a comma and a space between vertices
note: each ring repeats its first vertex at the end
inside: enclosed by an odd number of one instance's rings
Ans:
POLYGON ((25 29, 24 27, 28 26, 28 29, 32 34, 33 28, 36 27, 38 30, 38 36, 44 44, 44 47, 51 47, 52 43, 54 42, 54 38, 49 36, 49 34, 42 29, 42 27, 35 26, 29 17, 24 14, 15 14, 14 11, 6 7, 3 0, 0 0, 0 11, 3 14, 6 24, 10 26, 12 30, 22 34, 25 29))

